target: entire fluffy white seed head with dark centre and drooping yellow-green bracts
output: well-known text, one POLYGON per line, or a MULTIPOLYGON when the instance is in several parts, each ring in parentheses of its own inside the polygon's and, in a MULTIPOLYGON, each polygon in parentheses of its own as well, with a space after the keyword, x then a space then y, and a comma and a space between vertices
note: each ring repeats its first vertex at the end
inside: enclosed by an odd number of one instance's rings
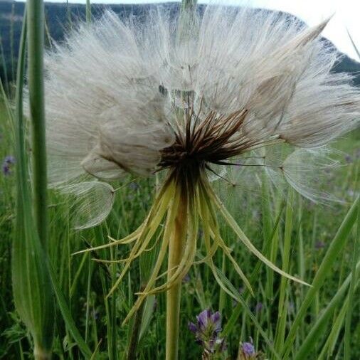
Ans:
POLYGON ((285 14, 224 6, 176 18, 159 8, 142 21, 106 11, 48 53, 49 181, 86 198, 78 227, 95 226, 110 213, 110 181, 127 173, 166 173, 142 226, 109 244, 133 243, 129 258, 120 260, 125 267, 119 283, 165 221, 154 274, 137 305, 147 294, 179 283, 194 262, 208 263, 226 287, 212 263, 218 249, 250 288, 221 238, 218 213, 270 268, 301 282, 250 243, 210 178, 218 174, 221 181, 228 172, 253 166, 285 179, 307 198, 322 198, 308 180, 322 168, 322 147, 359 125, 360 115, 360 92, 351 76, 331 71, 339 55, 320 38, 326 25, 307 28, 285 14), (285 144, 287 157, 274 157, 285 144), (179 214, 181 261, 156 287, 179 214), (199 227, 203 258, 196 255, 199 227))

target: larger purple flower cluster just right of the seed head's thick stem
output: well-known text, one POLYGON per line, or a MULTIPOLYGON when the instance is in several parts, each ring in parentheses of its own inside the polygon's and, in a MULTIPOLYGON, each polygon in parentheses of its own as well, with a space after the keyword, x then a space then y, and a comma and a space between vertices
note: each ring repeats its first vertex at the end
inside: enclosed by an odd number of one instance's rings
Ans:
POLYGON ((196 319, 196 324, 189 322, 189 329, 195 334, 196 342, 210 354, 224 351, 226 344, 219 336, 222 330, 220 312, 211 312, 210 309, 206 309, 198 314, 196 319))

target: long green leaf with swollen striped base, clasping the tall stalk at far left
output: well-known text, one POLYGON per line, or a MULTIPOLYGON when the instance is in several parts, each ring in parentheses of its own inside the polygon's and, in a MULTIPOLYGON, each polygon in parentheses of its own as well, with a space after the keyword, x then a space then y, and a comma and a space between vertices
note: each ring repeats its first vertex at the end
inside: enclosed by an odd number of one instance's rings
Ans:
MULTIPOLYGON (((33 11, 34 9, 32 12, 30 11, 30 14, 33 14, 33 11)), ((28 16, 29 13, 26 15, 28 16)), ((17 213, 11 265, 16 309, 33 337, 35 359, 45 360, 51 359, 55 309, 48 273, 47 254, 41 243, 36 224, 33 222, 28 159, 26 156, 22 94, 27 26, 26 16, 24 16, 16 80, 17 213)), ((33 68, 37 67, 33 65, 33 68)), ((33 87, 33 85, 37 85, 37 82, 34 81, 33 77, 32 80, 31 86, 33 87)), ((32 107, 35 107, 35 104, 32 107)), ((36 129, 38 127, 35 127, 36 129)), ((38 137, 35 136, 34 139, 38 139, 38 137)), ((43 165, 45 166, 45 164, 43 165)), ((38 200, 37 198, 36 201, 38 200)), ((46 208, 44 209, 46 211, 46 208)), ((44 234, 41 231, 41 235, 44 234)), ((42 240, 45 241, 46 239, 43 238, 42 240)))

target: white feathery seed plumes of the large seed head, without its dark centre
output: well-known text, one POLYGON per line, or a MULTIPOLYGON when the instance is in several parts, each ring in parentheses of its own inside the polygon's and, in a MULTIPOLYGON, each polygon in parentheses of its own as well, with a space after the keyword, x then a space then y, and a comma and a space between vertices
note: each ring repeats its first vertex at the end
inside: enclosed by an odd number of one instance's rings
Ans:
POLYGON ((229 139, 251 144, 242 153, 280 142, 312 148, 290 154, 279 169, 313 199, 302 176, 316 168, 305 154, 314 159, 322 154, 314 148, 359 124, 359 90, 349 75, 331 73, 337 53, 319 38, 326 22, 306 28, 285 14, 221 6, 189 18, 181 29, 160 9, 145 21, 106 11, 46 56, 51 186, 83 196, 100 186, 101 204, 89 202, 80 226, 111 209, 113 190, 100 181, 157 169, 181 125, 179 109, 192 107, 198 122, 210 112, 246 110, 229 139), (98 184, 81 182, 89 174, 98 184))

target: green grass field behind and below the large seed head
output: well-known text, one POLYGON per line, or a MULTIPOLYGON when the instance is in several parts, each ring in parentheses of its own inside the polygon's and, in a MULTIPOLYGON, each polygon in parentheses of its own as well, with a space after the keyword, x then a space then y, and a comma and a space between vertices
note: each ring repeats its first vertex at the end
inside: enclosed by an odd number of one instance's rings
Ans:
MULTIPOLYGON (((1 105, 1 161, 14 154, 12 132, 5 107, 1 105)), ((276 189, 264 187, 258 194, 243 191, 236 194, 235 198, 228 198, 233 216, 253 243, 265 250, 266 255, 272 256, 279 266, 288 257, 289 272, 309 283, 312 283, 351 203, 359 195, 359 131, 340 139, 334 146, 344 152, 339 157, 342 157, 345 165, 334 174, 328 174, 326 185, 344 203, 317 205, 296 194, 293 200, 291 194, 285 196, 287 201, 284 201, 276 189), (268 248, 264 246, 267 242, 270 244, 268 248), (287 252, 286 244, 289 242, 290 252, 287 252)), ((2 172, 0 175, 0 358, 28 359, 32 356, 31 338, 14 310, 11 295, 11 242, 14 236, 16 191, 14 166, 16 163, 11 165, 10 174, 2 172)), ((76 327, 91 351, 95 351, 98 346, 95 359, 123 359, 131 342, 133 323, 122 325, 122 320, 136 299, 134 292, 139 290, 146 279, 157 245, 132 265, 128 276, 108 300, 105 300, 105 296, 115 282, 121 265, 105 265, 92 259, 125 258, 129 251, 127 245, 91 255, 72 254, 91 245, 107 243, 107 235, 121 238, 134 230, 146 216, 151 204, 154 196, 152 182, 152 179, 134 182, 129 178, 122 184, 115 184, 115 187, 122 187, 117 191, 115 206, 106 223, 86 231, 73 229, 72 200, 52 191, 49 193, 49 257, 76 327)), ((196 315, 206 308, 219 310, 222 315, 227 350, 219 359, 236 359, 239 342, 249 342, 250 339, 253 339, 255 349, 263 353, 264 359, 276 359, 270 346, 281 350, 309 290, 305 286, 282 280, 279 275, 260 265, 243 248, 234 233, 226 226, 222 227, 226 243, 233 249, 233 257, 251 279, 255 296, 248 295, 243 289, 233 266, 222 255, 216 255, 216 265, 240 292, 243 303, 235 302, 218 287, 206 265, 195 265, 183 283, 179 359, 201 359, 201 346, 195 343, 188 322, 194 322, 196 315)), ((201 233, 198 236, 201 239, 201 233)), ((360 359, 360 297, 355 295, 349 301, 349 287, 342 291, 342 284, 351 274, 354 263, 355 242, 356 226, 349 237, 342 240, 344 247, 337 253, 331 268, 327 270, 324 285, 316 292, 314 301, 302 317, 289 359, 344 359, 346 326, 351 334, 350 344, 347 344, 351 349, 350 359, 360 359), (333 303, 334 306, 329 309, 333 303), (349 304, 353 314, 351 322, 346 318, 349 304), (314 334, 310 333, 312 330, 314 334), (306 344, 305 349, 303 344, 306 344), (300 349, 305 351, 300 353, 306 354, 305 357, 296 357, 300 349)), ((139 359, 164 359, 164 300, 163 294, 149 297, 144 307, 137 345, 139 359)), ((53 358, 83 359, 78 343, 59 309, 53 314, 53 322, 53 358)))

